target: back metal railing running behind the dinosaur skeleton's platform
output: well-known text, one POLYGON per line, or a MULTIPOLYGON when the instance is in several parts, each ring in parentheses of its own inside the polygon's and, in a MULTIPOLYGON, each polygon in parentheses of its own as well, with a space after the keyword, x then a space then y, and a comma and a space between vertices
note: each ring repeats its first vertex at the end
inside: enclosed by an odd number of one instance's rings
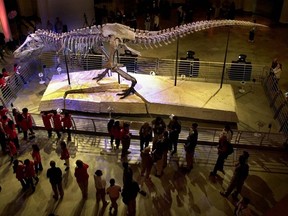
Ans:
MULTIPOLYGON (((60 55, 61 67, 65 70, 65 58, 60 55)), ((106 60, 102 55, 70 54, 66 58, 68 70, 70 72, 81 72, 83 70, 103 69, 106 60)), ((44 53, 41 56, 42 64, 47 67, 57 66, 55 53, 44 53), (54 61, 54 63, 53 63, 54 61)), ((176 60, 159 59, 150 57, 131 57, 119 56, 119 63, 126 66, 127 71, 131 73, 150 74, 175 77, 176 60)), ((265 74, 263 68, 265 65, 251 64, 249 62, 231 62, 226 63, 224 79, 226 83, 233 81, 254 81, 261 82, 265 74)), ((177 75, 178 78, 201 82, 220 82, 223 71, 223 62, 207 62, 196 60, 178 60, 177 75)))

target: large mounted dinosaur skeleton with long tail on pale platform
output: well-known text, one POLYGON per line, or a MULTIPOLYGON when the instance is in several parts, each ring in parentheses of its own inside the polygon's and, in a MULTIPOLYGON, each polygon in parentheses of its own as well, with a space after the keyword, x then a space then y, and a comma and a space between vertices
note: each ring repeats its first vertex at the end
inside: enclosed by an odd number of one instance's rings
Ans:
MULTIPOLYGON (((132 53, 140 55, 140 52, 132 49, 127 44, 140 45, 142 48, 157 48, 159 46, 168 45, 171 41, 175 41, 177 37, 184 37, 193 32, 202 31, 209 28, 219 26, 261 26, 248 21, 238 20, 211 20, 188 23, 175 28, 168 28, 161 31, 146 31, 139 29, 132 29, 128 26, 118 23, 108 23, 102 26, 91 26, 90 28, 82 28, 73 30, 67 33, 57 34, 47 30, 37 30, 30 34, 25 42, 14 52, 15 58, 31 57, 32 55, 39 55, 44 49, 54 49, 57 53, 63 50, 69 50, 72 53, 86 55, 93 48, 101 50, 106 57, 107 63, 104 66, 106 69, 99 74, 96 79, 100 81, 111 70, 118 73, 126 80, 131 81, 130 88, 119 93, 122 98, 127 97, 131 93, 135 93, 135 85, 137 80, 130 74, 124 72, 119 68, 119 64, 114 62, 114 55, 120 47, 130 50, 132 53), (103 43, 109 43, 109 51, 104 48, 103 43)), ((77 93, 83 90, 69 90, 65 93, 77 93)))

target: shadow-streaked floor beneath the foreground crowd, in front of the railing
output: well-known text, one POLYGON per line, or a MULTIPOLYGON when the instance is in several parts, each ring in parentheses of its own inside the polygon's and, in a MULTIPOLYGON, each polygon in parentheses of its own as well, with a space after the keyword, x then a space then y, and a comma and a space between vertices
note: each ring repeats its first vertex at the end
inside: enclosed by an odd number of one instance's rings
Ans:
MULTIPOLYGON (((45 131, 37 131, 35 140, 23 143, 19 159, 31 158, 31 144, 37 143, 41 148, 44 171, 40 173, 40 182, 35 193, 22 192, 16 180, 9 157, 1 157, 0 215, 108 215, 108 208, 96 205, 93 174, 96 169, 103 170, 107 180, 115 178, 122 185, 122 167, 119 152, 111 152, 108 139, 85 135, 73 135, 69 143, 71 153, 71 169, 64 172, 63 161, 59 159, 59 144, 56 137, 48 140, 45 131), (65 195, 63 200, 55 201, 46 170, 49 161, 55 160, 62 168, 65 195), (89 164, 88 200, 81 199, 81 192, 74 174, 75 161, 81 159, 89 164), (103 213, 104 212, 104 213, 103 213), (103 214, 102 214, 103 213, 103 214)), ((195 166, 190 173, 182 171, 183 146, 178 155, 168 157, 169 164, 159 179, 152 169, 151 181, 144 181, 139 175, 140 157, 138 141, 133 140, 132 153, 128 156, 129 164, 134 171, 134 178, 147 196, 138 195, 137 215, 232 215, 233 200, 225 199, 219 191, 225 189, 233 174, 233 164, 243 149, 236 149, 225 163, 226 174, 219 173, 216 180, 209 178, 209 172, 217 158, 215 147, 199 146, 196 149, 195 166)), ((251 199, 254 215, 262 215, 288 193, 288 159, 285 153, 260 152, 248 150, 250 153, 250 175, 242 191, 243 196, 251 199)), ((119 200, 119 214, 125 215, 125 205, 119 200)))

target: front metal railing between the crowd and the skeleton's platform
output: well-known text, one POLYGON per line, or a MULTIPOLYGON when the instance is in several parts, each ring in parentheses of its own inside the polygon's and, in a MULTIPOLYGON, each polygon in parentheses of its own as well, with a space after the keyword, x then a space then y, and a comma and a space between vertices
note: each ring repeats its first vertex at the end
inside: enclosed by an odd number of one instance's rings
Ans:
MULTIPOLYGON (((33 114, 34 126, 38 128, 44 128, 40 115, 33 114)), ((90 134, 109 136, 107 132, 107 123, 109 118, 92 118, 92 117, 79 117, 73 116, 73 131, 79 134, 90 134)), ((131 121, 125 120, 125 118, 119 119, 120 122, 130 123, 130 132, 134 139, 139 139, 139 129, 144 123, 143 121, 131 121)), ((219 134, 221 128, 198 128, 198 140, 202 145, 216 145, 218 143, 219 134)), ((189 127, 182 126, 182 131, 179 136, 179 142, 184 143, 189 133, 189 127)), ((283 144, 286 141, 286 137, 281 133, 265 133, 265 132, 253 132, 253 131, 238 131, 233 133, 233 139, 231 143, 234 147, 245 148, 269 148, 269 149, 283 149, 283 144)))

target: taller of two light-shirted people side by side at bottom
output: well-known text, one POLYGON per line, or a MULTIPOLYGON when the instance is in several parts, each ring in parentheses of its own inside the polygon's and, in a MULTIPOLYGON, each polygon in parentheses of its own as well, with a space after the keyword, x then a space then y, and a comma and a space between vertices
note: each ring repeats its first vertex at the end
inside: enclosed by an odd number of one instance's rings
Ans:
POLYGON ((96 201, 97 203, 100 202, 100 200, 103 203, 103 206, 108 205, 108 202, 105 199, 106 195, 106 181, 102 179, 102 171, 101 170, 96 170, 94 174, 94 184, 96 188, 96 201))

